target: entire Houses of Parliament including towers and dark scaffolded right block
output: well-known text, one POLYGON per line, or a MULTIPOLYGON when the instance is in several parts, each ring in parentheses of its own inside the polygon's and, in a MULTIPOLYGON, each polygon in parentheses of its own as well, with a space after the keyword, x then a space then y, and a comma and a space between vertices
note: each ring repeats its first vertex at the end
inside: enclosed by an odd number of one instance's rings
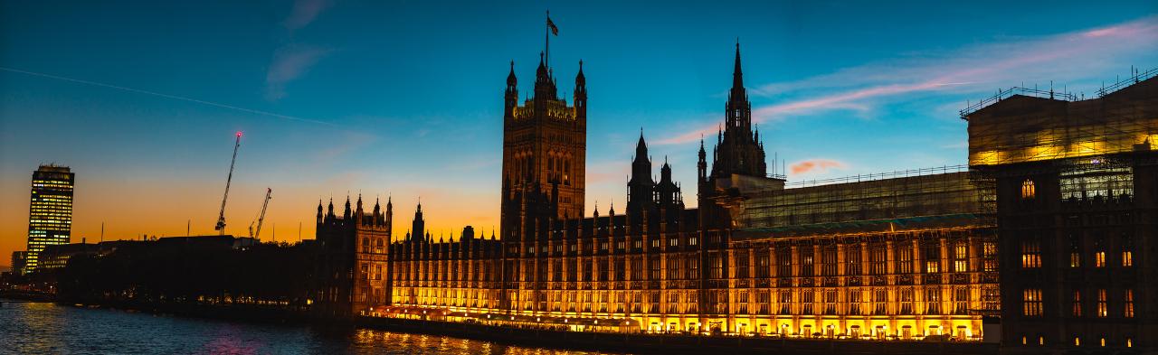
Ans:
MULTIPOLYGON (((541 54, 503 112, 498 235, 434 241, 418 206, 317 206, 315 306, 572 331, 1155 349, 1156 80, 1098 98, 1003 93, 961 112, 969 164, 790 183, 769 175, 740 46, 696 208, 640 133, 626 204, 585 215, 587 88, 541 54), (653 179, 659 167, 659 180, 653 179)), ((711 146, 710 150, 708 149, 711 146)))

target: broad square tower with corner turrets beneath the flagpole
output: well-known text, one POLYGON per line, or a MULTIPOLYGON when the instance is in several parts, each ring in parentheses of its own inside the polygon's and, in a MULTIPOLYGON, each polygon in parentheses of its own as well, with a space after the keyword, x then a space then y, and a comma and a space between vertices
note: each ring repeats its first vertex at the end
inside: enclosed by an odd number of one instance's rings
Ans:
POLYGON ((552 219, 576 219, 584 213, 587 79, 580 61, 573 91, 574 104, 569 105, 566 99, 558 97, 554 69, 548 67, 543 57, 544 53, 540 53, 533 96, 521 104, 513 62, 507 74, 500 207, 500 232, 504 236, 519 232, 518 225, 527 225, 526 219, 537 215, 528 216, 530 208, 552 219), (543 195, 528 199, 533 194, 543 195), (541 202, 528 206, 532 200, 541 202))

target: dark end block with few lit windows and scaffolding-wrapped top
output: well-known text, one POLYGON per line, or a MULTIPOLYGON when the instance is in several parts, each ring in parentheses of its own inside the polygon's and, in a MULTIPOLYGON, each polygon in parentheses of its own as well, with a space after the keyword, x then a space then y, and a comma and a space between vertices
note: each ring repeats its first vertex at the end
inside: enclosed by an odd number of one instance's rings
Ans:
POLYGON ((961 112, 970 168, 996 182, 1003 353, 1158 352, 1156 74, 961 112))

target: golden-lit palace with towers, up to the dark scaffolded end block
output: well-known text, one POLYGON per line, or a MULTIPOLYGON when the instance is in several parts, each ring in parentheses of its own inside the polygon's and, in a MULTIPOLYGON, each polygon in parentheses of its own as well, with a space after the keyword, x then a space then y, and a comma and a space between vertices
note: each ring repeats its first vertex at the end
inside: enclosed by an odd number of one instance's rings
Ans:
POLYGON ((699 208, 684 207, 667 162, 653 180, 640 134, 623 212, 580 217, 582 72, 574 106, 555 98, 545 64, 523 106, 515 84, 512 72, 498 237, 467 227, 434 241, 419 207, 411 232, 391 238, 389 204, 374 217, 320 204, 321 309, 573 331, 990 336, 991 184, 963 168, 798 186, 769 176, 739 46, 711 167, 701 143, 699 208))

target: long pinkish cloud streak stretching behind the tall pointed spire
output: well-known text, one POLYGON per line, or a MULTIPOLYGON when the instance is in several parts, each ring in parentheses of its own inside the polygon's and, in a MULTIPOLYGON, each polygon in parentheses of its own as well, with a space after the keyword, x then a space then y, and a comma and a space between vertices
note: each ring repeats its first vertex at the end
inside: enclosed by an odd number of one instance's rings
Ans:
MULTIPOLYGON (((840 69, 799 81, 776 82, 752 90, 779 103, 754 108, 762 123, 823 111, 868 112, 902 95, 991 93, 1023 80, 1063 79, 1094 82, 1099 69, 1122 66, 1109 58, 1136 58, 1158 51, 1158 15, 1108 27, 1045 37, 1012 38, 922 57, 899 58, 840 69)), ((963 106, 963 102, 961 103, 963 106)), ((716 126, 677 133, 659 143, 687 143, 716 126)))

